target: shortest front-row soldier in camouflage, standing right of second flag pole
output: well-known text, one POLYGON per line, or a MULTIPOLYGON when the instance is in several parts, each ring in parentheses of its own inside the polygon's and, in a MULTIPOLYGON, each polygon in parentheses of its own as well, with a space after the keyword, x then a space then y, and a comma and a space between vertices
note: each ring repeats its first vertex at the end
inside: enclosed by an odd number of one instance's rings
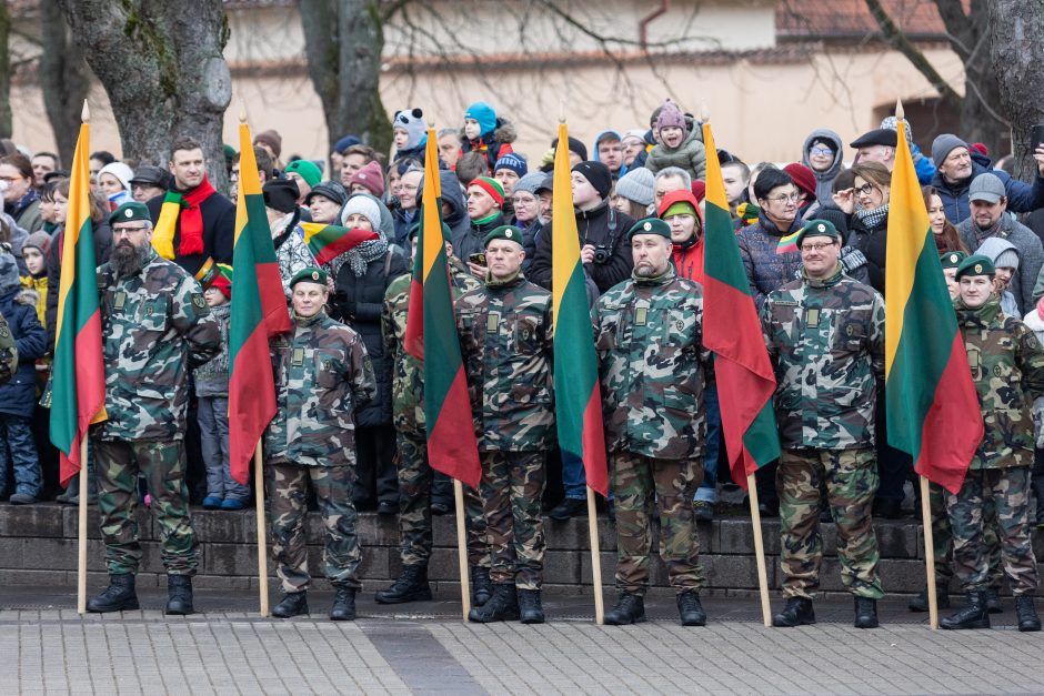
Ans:
POLYGON ((330 618, 355 618, 360 588, 355 534, 354 412, 377 392, 373 365, 355 331, 330 319, 327 273, 298 271, 290 281, 293 330, 272 341, 277 413, 264 434, 272 552, 287 596, 272 615, 308 614, 304 518, 308 490, 323 521, 323 563, 337 594, 330 618))

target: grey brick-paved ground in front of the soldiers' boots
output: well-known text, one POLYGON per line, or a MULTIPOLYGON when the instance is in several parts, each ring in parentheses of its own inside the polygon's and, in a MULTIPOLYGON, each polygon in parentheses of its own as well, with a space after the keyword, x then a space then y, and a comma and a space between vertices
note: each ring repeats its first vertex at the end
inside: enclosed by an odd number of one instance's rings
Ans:
MULTIPOLYGON (((1044 694, 1044 633, 931 632, 882 603, 884 627, 850 625, 846 601, 817 603, 820 623, 765 628, 749 598, 707 598, 711 623, 682 628, 670 597, 650 622, 596 626, 590 597, 550 597, 550 623, 480 626, 452 598, 389 611, 361 596, 360 619, 264 619, 255 596, 198 592, 200 614, 143 609, 80 617, 69 591, 0 589, 0 694, 1044 694)), ((612 601, 606 596, 606 601, 612 601)), ((774 603, 777 601, 774 599, 774 603)))

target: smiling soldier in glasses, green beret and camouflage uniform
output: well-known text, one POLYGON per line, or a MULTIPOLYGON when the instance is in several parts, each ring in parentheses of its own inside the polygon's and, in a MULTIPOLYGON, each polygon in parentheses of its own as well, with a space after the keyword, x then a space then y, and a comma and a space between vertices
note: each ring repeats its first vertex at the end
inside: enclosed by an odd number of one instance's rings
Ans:
POLYGON ((842 272, 841 235, 809 221, 796 240, 802 278, 773 291, 762 331, 779 386, 775 412, 783 454, 776 471, 783 596, 773 626, 814 624, 823 541, 820 488, 837 525, 841 579, 855 596, 855 626, 877 626, 884 596, 871 522, 877 467, 875 379, 884 374, 884 300, 842 272))

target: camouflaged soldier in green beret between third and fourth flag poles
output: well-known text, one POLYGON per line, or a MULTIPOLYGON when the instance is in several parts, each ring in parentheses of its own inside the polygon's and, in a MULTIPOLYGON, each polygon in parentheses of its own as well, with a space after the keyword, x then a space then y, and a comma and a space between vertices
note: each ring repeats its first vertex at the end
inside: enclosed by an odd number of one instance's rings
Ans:
POLYGON ((486 234, 485 285, 455 302, 468 374, 490 546, 493 596, 468 618, 544 621, 541 500, 554 446, 551 293, 522 275, 522 231, 486 234))

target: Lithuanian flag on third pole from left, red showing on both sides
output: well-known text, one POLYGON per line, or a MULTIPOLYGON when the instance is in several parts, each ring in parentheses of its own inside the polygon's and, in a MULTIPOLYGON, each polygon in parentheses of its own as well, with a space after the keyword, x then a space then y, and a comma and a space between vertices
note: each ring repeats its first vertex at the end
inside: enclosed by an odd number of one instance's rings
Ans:
POLYGON ((405 350, 424 363, 429 464, 478 488, 482 466, 450 293, 436 142, 435 131, 428 129, 421 229, 413 259, 404 343, 405 350))

